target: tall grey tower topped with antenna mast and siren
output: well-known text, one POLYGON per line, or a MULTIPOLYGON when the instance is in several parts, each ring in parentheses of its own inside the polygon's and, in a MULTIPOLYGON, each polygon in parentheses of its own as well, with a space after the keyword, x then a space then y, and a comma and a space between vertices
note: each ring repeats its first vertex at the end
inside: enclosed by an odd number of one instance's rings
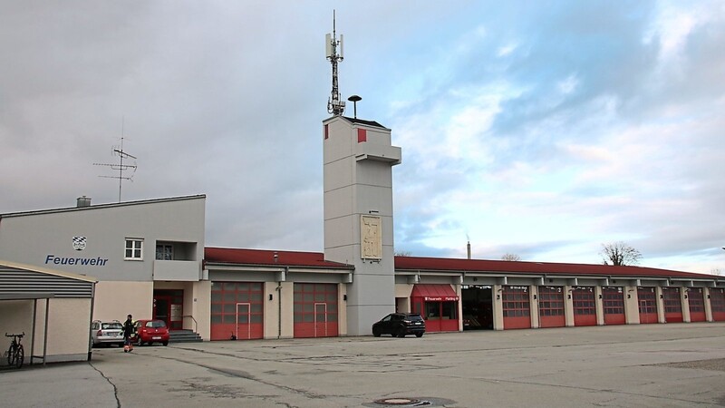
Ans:
MULTIPOLYGON (((377 121, 343 116, 337 87, 337 63, 343 60, 342 36, 327 34, 327 59, 333 63, 333 116, 323 121, 324 258, 350 265, 343 278, 347 335, 370 335, 372 323, 396 308, 393 256, 392 167, 401 148, 391 130, 377 121), (338 55, 338 45, 340 54, 338 55)), ((353 95, 348 101, 359 102, 353 95)), ((403 300, 401 300, 403 302, 403 300)), ((402 308, 410 305, 402 305, 402 308)))

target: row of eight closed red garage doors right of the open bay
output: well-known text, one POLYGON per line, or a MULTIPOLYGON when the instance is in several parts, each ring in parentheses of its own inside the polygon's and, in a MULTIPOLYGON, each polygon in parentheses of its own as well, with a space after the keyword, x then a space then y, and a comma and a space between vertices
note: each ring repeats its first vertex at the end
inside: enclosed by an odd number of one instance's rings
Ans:
MULTIPOLYGON (((504 329, 530 328, 531 305, 529 287, 502 288, 504 329)), ((680 287, 662 287, 664 317, 668 323, 682 322, 680 287)), ((594 287, 574 287, 565 294, 564 287, 538 287, 538 316, 540 327, 565 326, 565 296, 574 306, 574 325, 596 325, 594 287)), ((623 287, 603 287, 602 305, 605 325, 623 325, 623 287)), ((705 321, 705 296, 700 287, 689 288, 688 307, 691 322, 705 321)), ((640 323, 657 323, 657 294, 655 287, 637 287, 640 323)), ((725 321, 725 289, 710 289, 710 306, 715 321, 725 321)))

